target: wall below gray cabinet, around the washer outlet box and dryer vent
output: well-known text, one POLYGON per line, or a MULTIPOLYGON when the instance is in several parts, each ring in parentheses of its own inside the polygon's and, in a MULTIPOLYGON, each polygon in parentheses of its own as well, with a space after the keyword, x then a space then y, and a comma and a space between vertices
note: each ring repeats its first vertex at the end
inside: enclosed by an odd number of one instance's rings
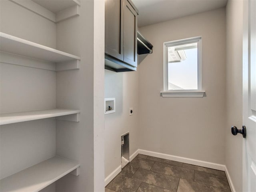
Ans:
POLYGON ((105 178, 121 165, 122 134, 130 133, 130 155, 138 150, 138 74, 105 70, 105 98, 116 98, 116 112, 105 115, 105 178))

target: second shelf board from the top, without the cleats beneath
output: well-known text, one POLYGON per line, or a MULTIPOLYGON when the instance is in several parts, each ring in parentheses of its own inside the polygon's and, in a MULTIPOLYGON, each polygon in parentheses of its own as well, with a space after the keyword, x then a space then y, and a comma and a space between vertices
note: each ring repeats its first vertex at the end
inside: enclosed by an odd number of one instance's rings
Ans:
POLYGON ((0 51, 54 63, 81 59, 78 56, 24 40, 3 32, 0 32, 0 51))

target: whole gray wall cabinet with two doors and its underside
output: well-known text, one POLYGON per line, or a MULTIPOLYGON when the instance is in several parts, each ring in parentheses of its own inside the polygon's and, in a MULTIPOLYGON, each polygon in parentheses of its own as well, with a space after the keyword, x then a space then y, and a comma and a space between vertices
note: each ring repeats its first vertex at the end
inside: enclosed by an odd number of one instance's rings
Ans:
POLYGON ((105 1, 105 68, 116 72, 137 68, 138 10, 130 0, 105 1))

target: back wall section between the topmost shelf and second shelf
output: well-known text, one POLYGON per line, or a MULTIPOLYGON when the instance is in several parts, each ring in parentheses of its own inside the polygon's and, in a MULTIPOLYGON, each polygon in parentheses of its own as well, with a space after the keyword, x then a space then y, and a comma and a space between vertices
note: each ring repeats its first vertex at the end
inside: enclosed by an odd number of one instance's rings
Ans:
POLYGON ((0 1, 1 32, 56 48, 54 22, 9 1, 0 1))

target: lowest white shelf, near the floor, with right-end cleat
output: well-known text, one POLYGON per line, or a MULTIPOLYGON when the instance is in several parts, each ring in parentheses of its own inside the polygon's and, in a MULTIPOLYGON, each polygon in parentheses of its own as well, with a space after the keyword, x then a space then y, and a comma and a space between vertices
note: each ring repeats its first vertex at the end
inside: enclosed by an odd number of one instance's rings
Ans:
POLYGON ((1 192, 38 192, 72 172, 79 175, 80 164, 53 157, 0 180, 1 192))

